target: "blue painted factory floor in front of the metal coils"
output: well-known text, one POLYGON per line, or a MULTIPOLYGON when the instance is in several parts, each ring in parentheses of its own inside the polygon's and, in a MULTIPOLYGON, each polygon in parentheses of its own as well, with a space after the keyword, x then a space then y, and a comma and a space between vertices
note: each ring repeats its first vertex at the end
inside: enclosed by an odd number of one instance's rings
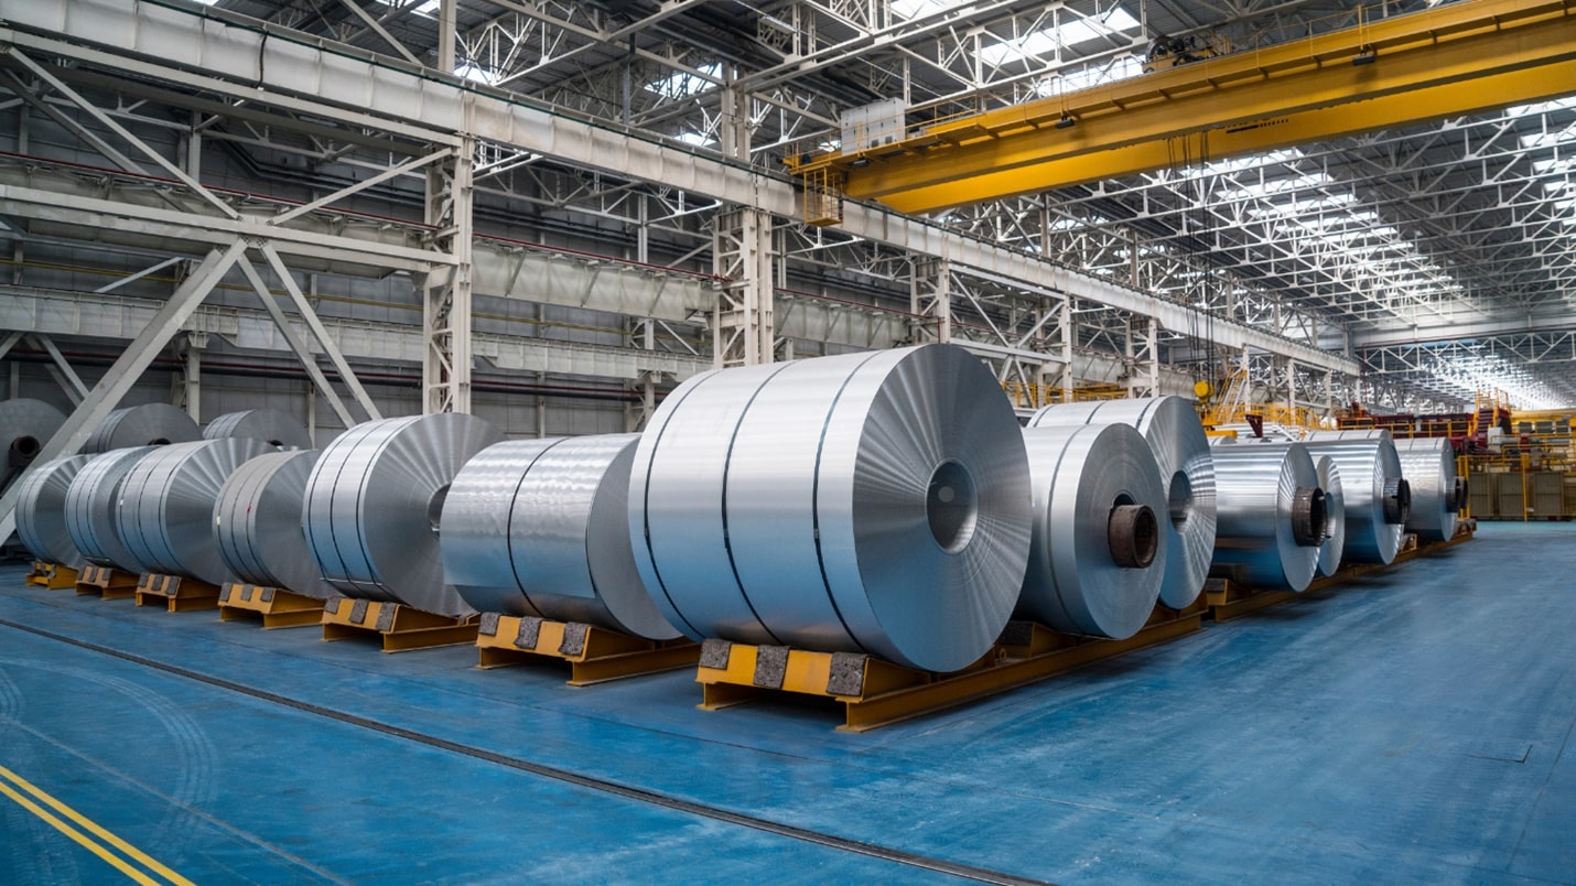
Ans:
POLYGON ((0 883, 1576 883, 1573 523, 865 735, 22 574, 0 883))

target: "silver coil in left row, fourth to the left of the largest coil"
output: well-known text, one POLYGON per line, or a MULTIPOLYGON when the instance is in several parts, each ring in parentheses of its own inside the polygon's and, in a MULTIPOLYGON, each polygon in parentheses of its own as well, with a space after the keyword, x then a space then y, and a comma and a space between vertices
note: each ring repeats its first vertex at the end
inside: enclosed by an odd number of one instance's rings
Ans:
POLYGON ((262 440, 199 440, 159 446, 120 484, 120 539, 148 572, 222 585, 236 580, 213 541, 224 481, 271 452, 262 440))

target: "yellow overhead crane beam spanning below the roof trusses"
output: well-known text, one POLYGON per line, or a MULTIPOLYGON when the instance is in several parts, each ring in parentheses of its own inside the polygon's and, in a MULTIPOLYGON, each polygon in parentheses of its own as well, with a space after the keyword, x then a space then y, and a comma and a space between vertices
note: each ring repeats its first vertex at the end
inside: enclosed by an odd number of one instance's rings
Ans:
POLYGON ((1576 93, 1576 0, 1469 0, 788 158, 805 218, 928 213, 1576 93))

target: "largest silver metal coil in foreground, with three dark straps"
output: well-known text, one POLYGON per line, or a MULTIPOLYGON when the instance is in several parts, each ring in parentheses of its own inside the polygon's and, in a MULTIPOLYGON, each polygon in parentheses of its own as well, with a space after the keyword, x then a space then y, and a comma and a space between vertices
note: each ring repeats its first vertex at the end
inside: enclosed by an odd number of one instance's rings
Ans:
POLYGON ((641 435, 641 580, 692 638, 957 670, 1012 615, 1023 435, 979 358, 925 345, 701 374, 641 435))

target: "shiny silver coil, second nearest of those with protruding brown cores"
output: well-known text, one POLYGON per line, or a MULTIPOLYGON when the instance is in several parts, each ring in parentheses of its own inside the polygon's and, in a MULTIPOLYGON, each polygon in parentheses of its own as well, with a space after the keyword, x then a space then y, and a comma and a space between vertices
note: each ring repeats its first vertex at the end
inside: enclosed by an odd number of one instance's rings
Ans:
MULTIPOLYGON (((1215 560, 1210 572, 1254 588, 1303 591, 1327 520, 1302 443, 1215 446, 1215 560)), ((1347 536, 1349 538, 1349 536, 1347 536)))

